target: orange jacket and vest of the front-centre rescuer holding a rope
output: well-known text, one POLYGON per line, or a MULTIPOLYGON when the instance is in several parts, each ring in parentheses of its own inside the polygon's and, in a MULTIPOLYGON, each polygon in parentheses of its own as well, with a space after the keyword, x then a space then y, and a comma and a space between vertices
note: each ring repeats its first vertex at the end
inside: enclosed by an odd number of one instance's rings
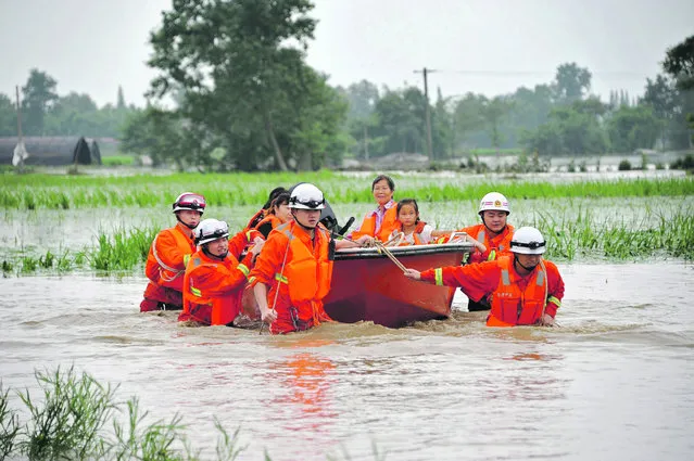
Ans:
POLYGON ((323 299, 330 291, 330 234, 318 226, 312 240, 294 221, 270 232, 251 271, 252 283, 267 285, 267 305, 277 311, 272 333, 306 330, 330 321, 323 299))

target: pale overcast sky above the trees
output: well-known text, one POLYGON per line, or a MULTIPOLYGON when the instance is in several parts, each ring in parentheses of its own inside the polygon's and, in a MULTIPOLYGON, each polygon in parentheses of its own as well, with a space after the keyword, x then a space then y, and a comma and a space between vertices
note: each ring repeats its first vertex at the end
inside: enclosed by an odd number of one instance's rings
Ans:
MULTIPOLYGON (((260 1, 260 0, 258 0, 260 1)), ((693 0, 314 0, 307 61, 332 85, 367 79, 444 95, 495 95, 548 82, 557 65, 593 73, 593 92, 643 92, 668 47, 694 34, 693 0)), ((0 0, 0 92, 14 98, 37 67, 59 94, 142 105, 155 72, 149 31, 171 0, 0 0)))

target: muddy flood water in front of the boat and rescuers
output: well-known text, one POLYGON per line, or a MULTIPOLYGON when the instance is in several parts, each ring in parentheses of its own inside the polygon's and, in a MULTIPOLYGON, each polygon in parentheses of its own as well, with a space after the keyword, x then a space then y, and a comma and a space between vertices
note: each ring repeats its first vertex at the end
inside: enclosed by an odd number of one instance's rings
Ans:
POLYGON ((458 294, 445 321, 287 336, 139 313, 143 277, 1 279, 0 376, 74 363, 209 456, 214 417, 240 427, 240 460, 694 459, 694 267, 559 269, 560 328, 487 329, 458 294))

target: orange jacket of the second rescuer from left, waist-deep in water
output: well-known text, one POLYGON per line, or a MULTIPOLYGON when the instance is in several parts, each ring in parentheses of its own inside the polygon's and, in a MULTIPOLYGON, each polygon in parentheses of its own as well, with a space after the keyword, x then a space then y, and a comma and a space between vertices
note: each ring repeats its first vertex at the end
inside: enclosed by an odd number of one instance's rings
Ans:
POLYGON ((194 320, 206 325, 231 323, 241 310, 241 296, 253 255, 243 262, 229 253, 224 260, 202 249, 192 255, 184 277, 184 311, 179 321, 194 320))

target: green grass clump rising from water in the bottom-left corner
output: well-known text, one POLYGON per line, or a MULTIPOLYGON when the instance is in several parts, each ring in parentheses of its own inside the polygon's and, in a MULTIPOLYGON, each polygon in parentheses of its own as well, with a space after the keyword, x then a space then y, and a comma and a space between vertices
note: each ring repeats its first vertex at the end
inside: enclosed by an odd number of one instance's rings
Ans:
MULTIPOLYGON (((215 419, 216 458, 203 458, 203 451, 186 437, 179 414, 148 422, 151 419, 141 412, 137 398, 118 402, 117 386, 103 385, 72 367, 36 371, 35 376, 42 398, 34 399, 28 389, 16 393, 29 415, 24 423, 10 408, 10 392, 0 382, 0 461, 16 457, 29 461, 232 461, 247 448, 239 444, 240 430, 229 434, 215 419)), ((375 459, 384 460, 374 450, 375 459)), ((272 461, 267 452, 264 459, 272 461)))

